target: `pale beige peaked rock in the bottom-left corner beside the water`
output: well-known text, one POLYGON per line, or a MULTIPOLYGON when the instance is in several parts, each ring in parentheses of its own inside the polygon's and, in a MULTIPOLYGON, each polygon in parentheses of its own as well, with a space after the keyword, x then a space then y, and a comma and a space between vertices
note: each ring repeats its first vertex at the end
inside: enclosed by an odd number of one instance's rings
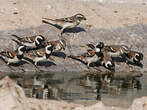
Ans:
POLYGON ((9 77, 0 81, 0 110, 31 110, 23 89, 9 77))

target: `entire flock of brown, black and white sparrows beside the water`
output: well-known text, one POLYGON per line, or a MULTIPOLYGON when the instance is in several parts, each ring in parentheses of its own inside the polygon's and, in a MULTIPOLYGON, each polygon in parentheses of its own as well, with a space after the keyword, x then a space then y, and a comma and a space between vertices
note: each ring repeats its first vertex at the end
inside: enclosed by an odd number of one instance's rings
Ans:
MULTIPOLYGON (((61 19, 49 19, 42 18, 42 20, 49 22, 54 25, 61 27, 61 37, 58 40, 49 41, 45 36, 34 35, 19 37, 18 35, 12 34, 19 47, 13 51, 1 51, 0 58, 7 64, 7 66, 13 69, 11 64, 25 61, 26 63, 33 64, 36 68, 38 62, 53 60, 50 56, 54 52, 60 52, 66 49, 66 39, 63 38, 62 34, 66 28, 74 28, 81 23, 82 20, 86 20, 83 14, 76 14, 71 17, 61 19)), ((80 55, 68 55, 67 58, 78 59, 86 64, 89 69, 91 63, 99 63, 110 71, 115 71, 115 61, 113 57, 125 56, 126 64, 132 62, 134 64, 141 63, 143 60, 143 53, 134 51, 127 45, 106 45, 103 42, 97 44, 90 43, 85 44, 89 49, 80 55)))

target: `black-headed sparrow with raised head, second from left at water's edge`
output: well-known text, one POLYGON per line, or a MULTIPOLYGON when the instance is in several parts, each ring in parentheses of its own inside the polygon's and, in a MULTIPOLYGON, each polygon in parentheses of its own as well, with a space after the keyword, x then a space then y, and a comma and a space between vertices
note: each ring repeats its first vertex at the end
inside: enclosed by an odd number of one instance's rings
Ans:
MULTIPOLYGON (((33 64, 38 71, 40 71, 37 67, 38 62, 48 61, 48 59, 51 59, 50 55, 51 55, 52 51, 53 51, 53 46, 47 45, 43 49, 30 51, 30 52, 24 54, 24 58, 26 60, 30 61, 30 63, 33 64)), ((53 60, 53 59, 51 59, 51 60, 53 60)))

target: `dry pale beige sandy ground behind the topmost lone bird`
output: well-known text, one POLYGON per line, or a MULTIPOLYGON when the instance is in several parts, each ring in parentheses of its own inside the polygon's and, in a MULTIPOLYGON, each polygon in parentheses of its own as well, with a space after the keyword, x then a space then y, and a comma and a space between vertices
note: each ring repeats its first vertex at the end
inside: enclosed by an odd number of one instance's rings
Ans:
POLYGON ((83 13, 83 24, 90 27, 113 28, 147 23, 146 12, 146 0, 0 0, 0 30, 36 27, 42 17, 76 13, 83 13))

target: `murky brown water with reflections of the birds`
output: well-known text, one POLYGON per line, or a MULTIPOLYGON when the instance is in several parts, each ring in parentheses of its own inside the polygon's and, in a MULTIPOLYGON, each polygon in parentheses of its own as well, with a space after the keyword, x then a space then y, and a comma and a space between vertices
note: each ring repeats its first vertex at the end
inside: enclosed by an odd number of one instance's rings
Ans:
POLYGON ((27 97, 66 100, 84 105, 101 100, 105 105, 129 107, 147 96, 147 75, 140 73, 25 73, 10 74, 27 97))

